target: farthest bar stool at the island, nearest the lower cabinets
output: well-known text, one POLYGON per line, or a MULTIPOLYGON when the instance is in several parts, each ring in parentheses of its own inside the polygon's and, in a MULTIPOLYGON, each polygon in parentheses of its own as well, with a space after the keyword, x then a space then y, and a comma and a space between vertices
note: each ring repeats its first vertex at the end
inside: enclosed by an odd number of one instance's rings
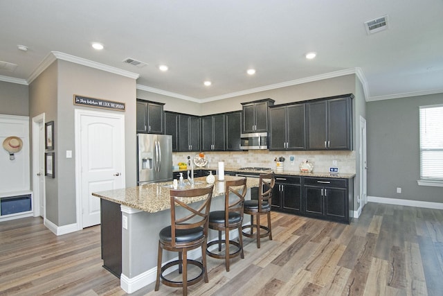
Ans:
POLYGON ((271 198, 272 189, 275 185, 274 173, 260 175, 260 183, 258 185, 258 199, 257 200, 245 200, 244 202, 244 214, 251 215, 251 225, 244 225, 242 229, 250 229, 250 232, 243 232, 243 235, 249 238, 257 238, 257 247, 260 248, 260 238, 269 236, 272 241, 271 230, 271 198), (260 216, 265 215, 268 219, 268 226, 260 225, 260 216), (257 224, 254 224, 254 216, 257 220, 257 224), (256 229, 255 233, 253 229, 256 229), (260 229, 264 229, 266 232, 261 233, 260 229))

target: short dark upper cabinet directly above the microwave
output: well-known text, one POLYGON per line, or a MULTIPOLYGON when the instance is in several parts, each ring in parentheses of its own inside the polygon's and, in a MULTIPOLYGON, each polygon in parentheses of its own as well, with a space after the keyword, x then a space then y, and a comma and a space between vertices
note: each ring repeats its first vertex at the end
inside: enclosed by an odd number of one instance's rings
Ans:
POLYGON ((268 131, 268 107, 275 101, 265 98, 260 101, 242 103, 243 124, 242 133, 267 132, 268 131))

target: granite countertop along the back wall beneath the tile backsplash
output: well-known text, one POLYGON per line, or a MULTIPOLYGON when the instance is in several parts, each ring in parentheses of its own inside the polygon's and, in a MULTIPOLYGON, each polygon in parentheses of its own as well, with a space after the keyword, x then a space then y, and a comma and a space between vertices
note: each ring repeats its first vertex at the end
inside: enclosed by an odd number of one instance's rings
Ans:
MULTIPOLYGON (((334 177, 334 178, 344 178, 344 179, 350 179, 355 177, 355 174, 350 173, 329 173, 329 172, 311 172, 311 173, 304 173, 300 171, 275 171, 273 169, 269 171, 245 171, 240 170, 240 167, 233 167, 233 166, 225 166, 224 171, 229 172, 236 172, 236 173, 271 173, 274 172, 275 175, 290 175, 290 176, 303 176, 303 177, 334 177)), ((203 167, 197 167, 194 168, 194 170, 206 170, 206 171, 218 171, 218 167, 215 166, 203 166, 203 167)), ((174 172, 186 172, 187 169, 180 169, 176 170, 174 172)))

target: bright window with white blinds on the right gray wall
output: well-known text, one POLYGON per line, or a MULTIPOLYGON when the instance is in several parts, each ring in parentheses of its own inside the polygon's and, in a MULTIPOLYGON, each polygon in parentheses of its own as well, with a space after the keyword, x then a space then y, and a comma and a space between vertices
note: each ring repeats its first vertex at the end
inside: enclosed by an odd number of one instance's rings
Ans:
POLYGON ((419 184, 443 186, 443 105, 420 107, 419 118, 419 184))

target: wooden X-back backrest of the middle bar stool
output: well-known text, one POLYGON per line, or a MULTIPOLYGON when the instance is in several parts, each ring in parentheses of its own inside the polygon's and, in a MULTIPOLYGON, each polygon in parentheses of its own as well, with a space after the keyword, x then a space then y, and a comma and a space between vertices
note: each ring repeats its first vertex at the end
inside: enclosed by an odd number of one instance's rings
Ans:
POLYGON ((248 188, 246 187, 245 177, 239 180, 225 181, 224 183, 224 221, 228 224, 229 212, 237 212, 243 217, 244 197, 248 188))

